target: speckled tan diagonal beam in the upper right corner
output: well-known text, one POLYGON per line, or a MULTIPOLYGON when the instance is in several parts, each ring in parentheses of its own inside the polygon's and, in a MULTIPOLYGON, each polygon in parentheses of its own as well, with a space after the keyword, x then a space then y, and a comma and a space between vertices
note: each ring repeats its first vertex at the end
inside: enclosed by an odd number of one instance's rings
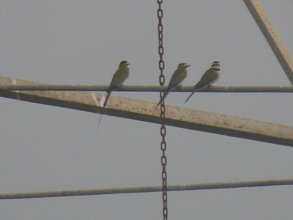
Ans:
POLYGON ((293 85, 293 59, 259 0, 243 0, 293 85))

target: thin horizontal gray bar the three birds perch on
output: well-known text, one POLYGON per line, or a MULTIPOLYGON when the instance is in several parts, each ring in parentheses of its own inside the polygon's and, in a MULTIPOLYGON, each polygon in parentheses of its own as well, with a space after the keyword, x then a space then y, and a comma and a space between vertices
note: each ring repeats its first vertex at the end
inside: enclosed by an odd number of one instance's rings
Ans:
MULTIPOLYGON (((108 85, 6 85, 0 84, 0 90, 18 91, 106 91, 108 85)), ((120 92, 164 92, 167 86, 125 86, 120 92)), ((193 92, 193 86, 179 86, 172 92, 193 92)), ((293 92, 292 86, 211 86, 198 92, 293 92)))

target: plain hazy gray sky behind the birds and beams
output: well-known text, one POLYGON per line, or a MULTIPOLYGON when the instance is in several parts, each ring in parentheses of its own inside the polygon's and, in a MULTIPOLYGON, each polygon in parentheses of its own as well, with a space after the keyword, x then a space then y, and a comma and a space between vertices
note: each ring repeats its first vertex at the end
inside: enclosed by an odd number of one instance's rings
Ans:
MULTIPOLYGON (((291 0, 262 0, 293 54, 291 0)), ((47 84, 158 85, 156 1, 1 1, 1 76, 47 84)), ((243 1, 163 1, 166 83, 181 62, 195 85, 290 86, 243 1)), ((112 95, 158 102, 159 93, 112 95)), ((292 94, 170 93, 168 105, 287 126, 292 94)), ((0 193, 161 185, 160 125, 1 99, 0 193)), ((167 183, 292 178, 293 149, 167 126, 167 183)), ((293 186, 168 192, 169 219, 292 219, 293 186)), ((161 193, 0 200, 3 219, 162 219, 161 193)))

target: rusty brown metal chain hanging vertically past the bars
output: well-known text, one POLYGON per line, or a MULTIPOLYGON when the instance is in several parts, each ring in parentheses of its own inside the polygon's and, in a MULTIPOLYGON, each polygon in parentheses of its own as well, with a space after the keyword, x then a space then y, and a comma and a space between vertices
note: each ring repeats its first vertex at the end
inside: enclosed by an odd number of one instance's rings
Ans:
MULTIPOLYGON (((158 32, 159 32, 159 69, 161 71, 161 75, 159 77, 160 85, 163 86, 165 84, 165 76, 163 75, 163 69, 165 69, 165 62, 163 61, 163 54, 164 54, 164 47, 163 47, 163 25, 162 25, 162 18, 163 18, 163 10, 161 9, 161 4, 163 3, 163 0, 157 0, 159 4, 159 9, 157 11, 157 15, 159 18, 159 24, 158 24, 158 32)), ((160 98, 164 95, 164 92, 160 92, 160 98)), ((161 157, 161 164, 163 166, 162 171, 162 192, 163 192, 163 219, 168 219, 168 209, 167 209, 167 172, 166 172, 166 165, 167 165, 167 157, 165 156, 165 150, 166 150, 166 127, 165 127, 165 103, 164 101, 161 102, 161 136, 162 136, 162 142, 161 142, 161 150, 163 152, 163 156, 161 157)))

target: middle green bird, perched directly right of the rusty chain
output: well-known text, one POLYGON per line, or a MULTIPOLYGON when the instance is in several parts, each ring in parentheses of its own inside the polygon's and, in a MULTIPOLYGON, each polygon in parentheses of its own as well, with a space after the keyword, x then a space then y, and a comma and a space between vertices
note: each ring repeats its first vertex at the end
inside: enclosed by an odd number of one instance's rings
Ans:
MULTIPOLYGON (((154 111, 156 111, 156 109, 158 108, 159 104, 165 100, 166 96, 168 95, 168 93, 174 89, 175 87, 177 87, 178 85, 180 85, 183 80, 186 78, 187 76, 187 70, 186 68, 190 67, 190 65, 186 64, 186 63, 180 63, 178 65, 177 70, 175 70, 175 72, 173 73, 170 82, 168 84, 167 90, 164 93, 164 95, 162 96, 161 100, 159 101, 159 103, 157 104, 156 108, 154 111)), ((154 114, 153 111, 153 114, 154 114)))

